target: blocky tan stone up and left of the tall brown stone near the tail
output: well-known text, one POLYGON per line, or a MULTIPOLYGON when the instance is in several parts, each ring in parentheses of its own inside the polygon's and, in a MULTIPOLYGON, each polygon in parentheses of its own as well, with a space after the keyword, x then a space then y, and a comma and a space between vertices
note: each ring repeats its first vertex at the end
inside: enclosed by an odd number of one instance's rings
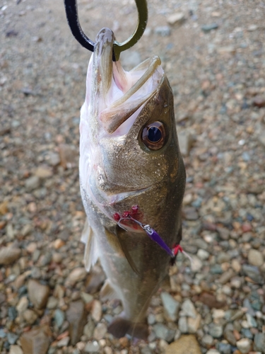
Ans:
POLYGON ((28 282, 28 297, 36 309, 43 309, 48 301, 49 287, 40 284, 37 280, 30 279, 28 282))

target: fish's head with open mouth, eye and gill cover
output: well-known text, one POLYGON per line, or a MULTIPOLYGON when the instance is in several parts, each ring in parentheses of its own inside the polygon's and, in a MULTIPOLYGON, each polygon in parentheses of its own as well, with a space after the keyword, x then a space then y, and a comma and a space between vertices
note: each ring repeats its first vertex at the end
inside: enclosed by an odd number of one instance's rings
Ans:
POLYGON ((138 205, 141 222, 176 234, 185 172, 172 89, 159 57, 125 72, 112 61, 113 43, 112 31, 103 28, 88 65, 80 125, 82 194, 110 219, 138 205), (159 215, 167 227, 159 226, 159 215))

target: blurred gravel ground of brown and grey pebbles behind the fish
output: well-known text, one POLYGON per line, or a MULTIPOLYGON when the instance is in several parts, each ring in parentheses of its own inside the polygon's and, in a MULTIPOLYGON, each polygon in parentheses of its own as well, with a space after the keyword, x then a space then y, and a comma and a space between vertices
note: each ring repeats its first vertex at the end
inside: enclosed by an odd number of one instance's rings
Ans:
MULTIPOLYGON (((148 343, 107 333, 121 304, 99 301, 100 265, 83 268, 90 54, 61 2, 0 0, 1 353, 265 353, 265 2, 150 0, 146 34, 122 55, 127 68, 160 55, 187 168, 182 246, 193 262, 177 256, 153 297, 148 343)), ((133 0, 78 6, 92 39, 106 25, 119 41, 134 30, 133 0)))

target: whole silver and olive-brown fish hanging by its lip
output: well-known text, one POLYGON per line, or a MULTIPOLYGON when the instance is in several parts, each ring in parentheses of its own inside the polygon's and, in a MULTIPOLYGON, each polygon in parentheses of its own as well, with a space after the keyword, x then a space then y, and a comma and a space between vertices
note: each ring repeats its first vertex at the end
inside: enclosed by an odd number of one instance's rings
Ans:
POLYGON ((102 300, 124 311, 113 336, 148 338, 146 311, 170 268, 168 249, 182 239, 186 173, 172 89, 158 56, 126 72, 112 61, 114 33, 102 28, 88 64, 81 108, 79 175, 86 224, 86 270, 100 260, 102 300), (148 237, 146 225, 160 241, 148 237))

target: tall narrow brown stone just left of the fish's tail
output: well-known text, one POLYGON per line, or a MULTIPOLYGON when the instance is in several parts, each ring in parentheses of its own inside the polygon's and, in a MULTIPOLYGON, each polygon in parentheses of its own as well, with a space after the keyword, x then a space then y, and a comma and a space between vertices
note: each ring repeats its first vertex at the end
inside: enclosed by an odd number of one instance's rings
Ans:
POLYGON ((71 345, 74 346, 83 333, 86 324, 86 309, 83 301, 78 300, 70 303, 66 311, 66 319, 69 322, 69 334, 71 345))

